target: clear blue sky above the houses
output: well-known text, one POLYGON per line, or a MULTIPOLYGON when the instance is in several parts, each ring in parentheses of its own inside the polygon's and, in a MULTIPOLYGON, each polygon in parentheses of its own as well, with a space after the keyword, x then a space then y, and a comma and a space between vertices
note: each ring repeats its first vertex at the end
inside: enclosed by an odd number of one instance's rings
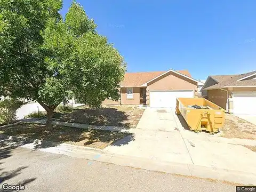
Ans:
MULTIPOLYGON (((188 69, 196 79, 256 70, 255 0, 77 0, 127 72, 188 69)), ((65 15, 71 0, 63 0, 65 15)))

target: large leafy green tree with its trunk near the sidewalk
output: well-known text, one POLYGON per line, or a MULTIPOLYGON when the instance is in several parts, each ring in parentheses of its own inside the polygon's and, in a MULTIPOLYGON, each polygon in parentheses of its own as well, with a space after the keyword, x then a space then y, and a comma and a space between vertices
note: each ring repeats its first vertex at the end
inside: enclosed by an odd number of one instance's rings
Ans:
POLYGON ((0 94, 38 101, 52 127, 53 110, 76 97, 98 107, 117 100, 122 56, 79 4, 62 19, 62 1, 0 1, 0 94))

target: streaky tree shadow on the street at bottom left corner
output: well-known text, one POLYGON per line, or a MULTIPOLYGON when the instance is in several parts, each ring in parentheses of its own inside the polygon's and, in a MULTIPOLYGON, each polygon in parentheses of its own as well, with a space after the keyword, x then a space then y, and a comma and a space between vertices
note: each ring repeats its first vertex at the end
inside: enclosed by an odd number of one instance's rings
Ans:
MULTIPOLYGON (((17 175, 21 174, 21 171, 22 171, 23 169, 26 169, 27 167, 28 167, 28 166, 21 166, 21 167, 15 169, 15 170, 12 170, 12 171, 3 171, 2 173, 0 173, 0 183, 1 183, 1 184, 3 184, 3 183, 8 183, 9 185, 11 185, 11 183, 9 183, 7 180, 12 179, 12 178, 16 177, 17 175)), ((21 182, 15 183, 15 185, 21 184, 21 185, 25 186, 25 188, 26 188, 26 184, 27 184, 27 183, 33 182, 33 181, 35 181, 35 180, 36 180, 36 178, 25 179, 25 180, 23 180, 23 181, 21 181, 21 182)), ((14 183, 12 183, 12 185, 13 185, 13 184, 14 184, 14 183)), ((2 192, 2 191, 6 191, 6 190, 4 190, 4 189, 2 188, 2 189, 0 190, 0 192, 2 192)), ((8 190, 8 191, 15 191, 15 190, 8 190)))

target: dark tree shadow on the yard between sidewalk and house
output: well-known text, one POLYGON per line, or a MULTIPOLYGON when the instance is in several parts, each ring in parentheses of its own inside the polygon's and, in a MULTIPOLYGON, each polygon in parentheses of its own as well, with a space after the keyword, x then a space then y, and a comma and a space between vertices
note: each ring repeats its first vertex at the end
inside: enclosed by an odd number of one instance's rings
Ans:
POLYGON ((53 118, 54 121, 62 122, 131 127, 129 113, 112 107, 74 108, 72 112, 55 112, 53 118))

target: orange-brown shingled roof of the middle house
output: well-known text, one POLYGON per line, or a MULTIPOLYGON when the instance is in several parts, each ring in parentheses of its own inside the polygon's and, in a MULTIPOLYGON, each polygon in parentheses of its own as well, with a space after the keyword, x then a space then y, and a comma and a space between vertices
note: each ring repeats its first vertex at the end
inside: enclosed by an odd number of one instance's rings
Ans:
MULTIPOLYGON (((188 70, 177 70, 179 73, 191 77, 188 70)), ((150 81, 151 79, 165 73, 166 71, 151 71, 151 72, 139 72, 139 73, 125 73, 124 80, 121 82, 121 86, 141 86, 142 84, 150 81)))

